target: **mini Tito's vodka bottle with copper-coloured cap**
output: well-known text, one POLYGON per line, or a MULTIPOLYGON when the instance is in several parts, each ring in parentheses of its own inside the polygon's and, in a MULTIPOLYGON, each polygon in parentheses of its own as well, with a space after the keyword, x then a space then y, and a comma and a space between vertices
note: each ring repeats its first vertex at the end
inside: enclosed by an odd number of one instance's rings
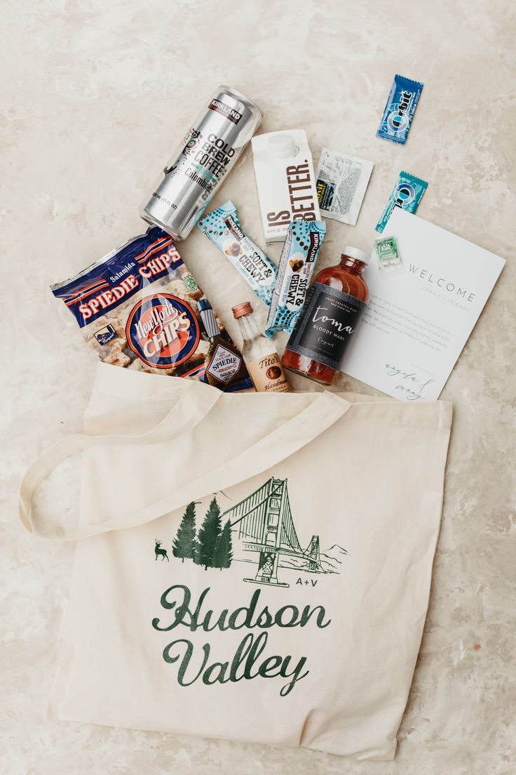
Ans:
POLYGON ((249 301, 237 304, 232 310, 244 339, 242 356, 258 393, 288 393, 290 385, 285 377, 279 355, 274 350, 271 340, 267 339, 258 328, 249 301))

